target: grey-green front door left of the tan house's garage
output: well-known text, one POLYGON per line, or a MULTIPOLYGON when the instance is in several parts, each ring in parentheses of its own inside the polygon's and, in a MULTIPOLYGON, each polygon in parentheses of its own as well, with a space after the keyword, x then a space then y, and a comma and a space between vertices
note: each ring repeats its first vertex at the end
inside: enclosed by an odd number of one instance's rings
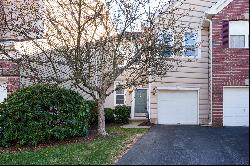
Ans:
POLYGON ((145 117, 147 113, 147 89, 135 90, 135 117, 145 117))

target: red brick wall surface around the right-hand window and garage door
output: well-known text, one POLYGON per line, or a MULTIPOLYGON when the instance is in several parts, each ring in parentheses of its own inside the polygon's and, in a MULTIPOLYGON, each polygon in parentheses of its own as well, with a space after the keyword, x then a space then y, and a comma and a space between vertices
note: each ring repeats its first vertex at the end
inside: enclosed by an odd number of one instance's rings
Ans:
POLYGON ((222 47, 223 20, 249 20, 249 0, 234 0, 212 18, 213 22, 213 125, 223 125, 223 86, 245 86, 249 78, 249 49, 222 47))

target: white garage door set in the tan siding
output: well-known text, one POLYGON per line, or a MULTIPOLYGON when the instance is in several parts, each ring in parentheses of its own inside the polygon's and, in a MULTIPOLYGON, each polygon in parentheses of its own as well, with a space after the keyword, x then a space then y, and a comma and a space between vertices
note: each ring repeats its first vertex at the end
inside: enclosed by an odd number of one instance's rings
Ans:
POLYGON ((158 123, 198 124, 198 91, 159 91, 158 123))

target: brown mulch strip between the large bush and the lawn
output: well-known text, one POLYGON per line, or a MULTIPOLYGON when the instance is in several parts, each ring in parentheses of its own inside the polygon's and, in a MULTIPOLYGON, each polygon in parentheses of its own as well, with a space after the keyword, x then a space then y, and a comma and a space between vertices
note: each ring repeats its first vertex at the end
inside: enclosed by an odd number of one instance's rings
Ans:
POLYGON ((44 143, 44 144, 39 144, 37 146, 31 146, 31 145, 25 145, 25 146, 19 146, 19 145, 13 145, 10 147, 0 147, 0 153, 3 152, 19 152, 19 151, 23 151, 23 150, 39 150, 42 148, 46 148, 46 147, 52 147, 52 146, 58 146, 58 145, 64 145, 64 144, 73 144, 73 143, 80 143, 80 142, 89 142, 92 141, 96 138, 100 138, 100 136, 97 134, 97 130, 96 129, 90 129, 89 130, 89 134, 86 137, 74 137, 74 138, 67 138, 61 141, 49 141, 48 143, 44 143))

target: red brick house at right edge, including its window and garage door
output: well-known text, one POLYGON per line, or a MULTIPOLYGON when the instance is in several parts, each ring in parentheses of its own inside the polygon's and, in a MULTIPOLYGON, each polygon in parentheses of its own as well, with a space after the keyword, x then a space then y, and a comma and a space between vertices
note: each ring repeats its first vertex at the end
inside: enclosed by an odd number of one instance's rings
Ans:
POLYGON ((249 0, 219 1, 212 26, 212 121, 249 126, 249 0))

